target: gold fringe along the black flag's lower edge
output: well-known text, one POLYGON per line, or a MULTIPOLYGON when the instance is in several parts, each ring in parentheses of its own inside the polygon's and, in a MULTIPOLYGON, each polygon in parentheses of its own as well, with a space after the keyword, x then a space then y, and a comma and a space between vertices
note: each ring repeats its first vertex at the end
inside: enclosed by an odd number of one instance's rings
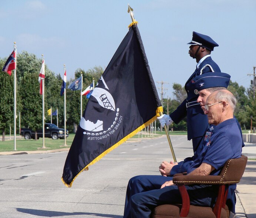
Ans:
MULTIPOLYGON (((136 22, 134 22, 136 23, 136 22)), ((141 131, 142 129, 144 129, 145 127, 147 127, 149 124, 151 124, 152 122, 154 122, 157 117, 160 116, 160 112, 163 112, 163 107, 157 107, 156 110, 156 115, 154 117, 152 117, 149 121, 145 122, 144 124, 142 124, 139 128, 135 129, 133 132, 131 132, 129 135, 125 136, 124 138, 122 138, 119 142, 117 142, 116 144, 114 144, 112 147, 110 147, 109 149, 105 150, 102 154, 100 154, 99 156, 97 156, 97 158, 95 158, 92 162, 90 162, 86 167, 84 167, 84 169, 82 169, 77 175, 76 177, 83 171, 85 170, 89 170, 89 166, 93 165, 94 163, 98 162, 100 159, 102 159, 107 153, 109 153, 110 151, 114 150, 115 148, 117 148, 119 145, 121 145, 123 142, 127 141, 127 139, 131 138, 132 136, 136 135, 139 131, 141 131)), ((65 186, 67 187, 72 187, 73 181, 76 179, 76 177, 74 177, 74 179, 72 180, 72 182, 70 184, 65 183, 65 181, 63 180, 63 178, 61 178, 62 182, 64 183, 65 186)))

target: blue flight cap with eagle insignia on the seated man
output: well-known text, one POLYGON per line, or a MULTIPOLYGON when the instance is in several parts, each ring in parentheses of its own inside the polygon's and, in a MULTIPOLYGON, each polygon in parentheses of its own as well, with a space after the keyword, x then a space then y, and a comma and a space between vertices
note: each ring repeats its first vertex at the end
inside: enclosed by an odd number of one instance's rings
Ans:
POLYGON ((211 72, 204 73, 202 75, 196 76, 193 79, 195 86, 195 94, 203 89, 213 88, 213 87, 225 87, 229 85, 230 75, 221 72, 211 72))

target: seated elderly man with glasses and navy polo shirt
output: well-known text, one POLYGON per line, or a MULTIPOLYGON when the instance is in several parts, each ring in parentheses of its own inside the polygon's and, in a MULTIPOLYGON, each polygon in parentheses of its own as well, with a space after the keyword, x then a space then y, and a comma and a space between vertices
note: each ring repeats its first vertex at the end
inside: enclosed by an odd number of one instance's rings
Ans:
MULTIPOLYGON (((187 173, 194 175, 218 175, 228 159, 240 158, 242 138, 233 112, 236 98, 227 90, 214 91, 207 98, 205 113, 209 124, 214 124, 209 140, 196 157, 187 173)), ((212 207, 216 198, 215 186, 186 186, 190 204, 212 207), (207 193, 207 195, 206 195, 207 193), (210 193, 210 194, 209 194, 210 193)), ((160 189, 135 194, 130 199, 131 217, 150 217, 154 207, 161 204, 182 203, 177 186, 166 181, 160 189)))

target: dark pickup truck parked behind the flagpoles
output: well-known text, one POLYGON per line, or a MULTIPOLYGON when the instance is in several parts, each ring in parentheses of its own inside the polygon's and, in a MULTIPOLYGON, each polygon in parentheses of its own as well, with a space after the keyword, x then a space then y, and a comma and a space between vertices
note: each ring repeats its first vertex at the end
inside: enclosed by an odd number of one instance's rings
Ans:
MULTIPOLYGON (((20 135, 24 136, 25 139, 35 139, 35 131, 29 128, 21 128, 20 135)), ((69 136, 69 131, 66 129, 66 138, 69 136)), ((60 129, 55 124, 46 123, 44 124, 44 137, 52 139, 64 139, 64 129, 60 129)), ((43 130, 37 130, 37 139, 43 138, 43 130)))

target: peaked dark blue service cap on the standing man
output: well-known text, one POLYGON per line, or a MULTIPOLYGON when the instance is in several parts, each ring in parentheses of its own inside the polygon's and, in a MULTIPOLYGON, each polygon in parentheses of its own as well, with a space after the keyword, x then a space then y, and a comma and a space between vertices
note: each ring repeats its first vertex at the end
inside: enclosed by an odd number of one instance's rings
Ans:
POLYGON ((201 45, 202 47, 213 51, 214 47, 219 46, 213 39, 207 35, 193 32, 192 40, 188 43, 189 45, 201 45))

